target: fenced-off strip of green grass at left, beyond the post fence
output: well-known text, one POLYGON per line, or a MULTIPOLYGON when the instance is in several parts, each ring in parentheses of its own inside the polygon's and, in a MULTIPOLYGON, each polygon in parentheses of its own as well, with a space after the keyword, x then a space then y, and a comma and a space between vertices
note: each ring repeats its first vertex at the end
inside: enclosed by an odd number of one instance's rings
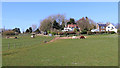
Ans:
POLYGON ((16 48, 23 48, 32 46, 35 44, 41 44, 44 41, 50 41, 53 37, 45 37, 45 36, 36 36, 35 38, 31 38, 31 35, 20 35, 17 36, 18 39, 13 38, 3 38, 2 39, 2 51, 16 49, 16 48))

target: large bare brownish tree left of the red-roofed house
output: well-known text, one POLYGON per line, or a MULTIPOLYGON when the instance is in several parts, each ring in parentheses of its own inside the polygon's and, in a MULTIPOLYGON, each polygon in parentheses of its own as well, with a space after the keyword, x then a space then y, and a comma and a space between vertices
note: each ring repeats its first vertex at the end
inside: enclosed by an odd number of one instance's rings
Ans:
POLYGON ((56 14, 56 15, 48 16, 47 18, 45 18, 44 20, 42 20, 40 22, 39 29, 41 31, 53 30, 54 21, 56 21, 59 25, 62 25, 63 21, 64 21, 64 23, 66 23, 65 15, 64 14, 56 14))

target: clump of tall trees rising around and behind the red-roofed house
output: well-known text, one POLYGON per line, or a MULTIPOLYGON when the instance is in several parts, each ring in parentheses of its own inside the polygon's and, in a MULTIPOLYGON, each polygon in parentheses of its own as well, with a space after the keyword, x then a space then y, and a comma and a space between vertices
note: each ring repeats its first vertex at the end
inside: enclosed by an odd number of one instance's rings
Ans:
POLYGON ((57 14, 51 15, 40 22, 39 29, 41 31, 61 31, 65 25, 77 24, 78 27, 83 31, 89 31, 96 28, 96 23, 88 17, 83 17, 77 21, 74 18, 66 19, 65 15, 57 14))

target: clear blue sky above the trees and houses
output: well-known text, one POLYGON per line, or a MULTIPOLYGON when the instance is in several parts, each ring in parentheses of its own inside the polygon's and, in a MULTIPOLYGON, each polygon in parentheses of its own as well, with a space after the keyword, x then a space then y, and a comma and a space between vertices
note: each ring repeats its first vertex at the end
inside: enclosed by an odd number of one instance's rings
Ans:
POLYGON ((118 23, 117 2, 3 2, 2 27, 19 27, 23 31, 58 13, 65 14, 67 19, 87 16, 97 23, 118 23))

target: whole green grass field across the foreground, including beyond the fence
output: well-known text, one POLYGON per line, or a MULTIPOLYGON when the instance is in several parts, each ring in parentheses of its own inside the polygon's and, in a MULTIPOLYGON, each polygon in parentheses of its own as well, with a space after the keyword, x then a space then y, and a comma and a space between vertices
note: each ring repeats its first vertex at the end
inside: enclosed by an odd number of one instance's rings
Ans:
POLYGON ((90 35, 86 39, 61 39, 51 43, 38 40, 51 37, 29 37, 16 42, 29 42, 26 47, 7 49, 4 43, 15 39, 3 39, 3 66, 117 66, 118 36, 90 35), (36 41, 36 42, 35 42, 36 41), (29 46, 31 45, 31 46, 29 46))

